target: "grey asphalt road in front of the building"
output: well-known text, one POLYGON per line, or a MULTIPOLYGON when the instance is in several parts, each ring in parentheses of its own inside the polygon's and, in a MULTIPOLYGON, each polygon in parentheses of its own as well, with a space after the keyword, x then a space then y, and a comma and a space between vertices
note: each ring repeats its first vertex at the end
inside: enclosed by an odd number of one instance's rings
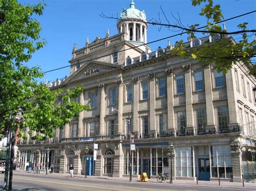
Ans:
MULTIPOLYGON (((3 188, 4 174, 0 174, 0 188, 3 188)), ((167 183, 124 182, 106 179, 54 177, 37 174, 14 174, 13 190, 245 190, 234 188, 207 188, 174 186, 167 183)))

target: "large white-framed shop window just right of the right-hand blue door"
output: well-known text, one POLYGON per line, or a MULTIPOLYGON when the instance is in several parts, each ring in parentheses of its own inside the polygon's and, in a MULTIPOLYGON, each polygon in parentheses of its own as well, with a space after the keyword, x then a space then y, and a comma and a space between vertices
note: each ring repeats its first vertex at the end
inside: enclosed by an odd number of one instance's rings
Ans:
POLYGON ((231 148, 229 145, 210 146, 211 178, 233 178, 231 148))

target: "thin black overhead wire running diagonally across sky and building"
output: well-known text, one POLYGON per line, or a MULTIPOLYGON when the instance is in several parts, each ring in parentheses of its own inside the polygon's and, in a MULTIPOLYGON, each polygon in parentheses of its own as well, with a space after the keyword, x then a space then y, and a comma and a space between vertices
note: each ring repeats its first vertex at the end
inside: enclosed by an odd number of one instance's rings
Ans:
MULTIPOLYGON (((235 19, 235 18, 238 18, 238 17, 250 15, 251 13, 254 13, 254 12, 256 12, 256 10, 250 11, 250 12, 244 13, 244 14, 242 14, 242 15, 238 15, 238 16, 232 17, 232 18, 224 19, 224 20, 221 20, 220 22, 213 23, 213 24, 223 23, 223 22, 226 22, 226 21, 228 21, 228 20, 232 20, 232 19, 235 19)), ((212 25, 213 25, 213 24, 212 24, 212 25)), ((206 27, 206 26, 198 27, 196 30, 198 30, 198 29, 203 29, 203 28, 205 28, 205 27, 206 27)), ((181 32, 181 33, 178 33, 178 34, 174 34, 174 35, 172 35, 172 36, 169 36, 169 37, 161 38, 161 39, 158 39, 158 40, 153 40, 153 41, 151 41, 151 42, 149 42, 149 43, 145 43, 145 44, 138 45, 138 46, 134 46, 134 47, 127 48, 127 49, 123 49, 123 50, 121 50, 121 51, 118 51, 117 53, 124 52, 124 51, 128 51, 128 50, 134 49, 134 48, 138 48, 138 47, 140 47, 140 46, 144 46, 144 45, 149 45, 149 44, 152 44, 152 43, 156 43, 156 42, 158 42, 158 41, 165 40, 165 39, 169 39, 169 38, 172 38, 172 37, 176 37, 176 36, 179 36, 179 35, 182 35, 182 34, 185 34, 185 33, 187 33, 187 32, 181 32)), ((96 59, 103 58, 103 57, 109 56, 109 55, 112 55, 112 53, 111 53, 111 54, 105 54, 105 55, 102 55, 102 56, 98 56, 97 58, 88 59, 88 60, 85 60, 85 61, 82 61, 82 62, 78 62, 78 63, 84 63, 84 62, 96 60, 96 59)), ((56 71, 56 70, 59 70, 59 69, 68 68, 68 67, 71 67, 71 66, 75 66, 75 65, 77 65, 78 63, 72 64, 72 65, 63 66, 63 67, 59 67, 59 68, 55 68, 55 69, 51 69, 51 70, 48 70, 48 71, 43 72, 43 73, 49 73, 49 72, 53 72, 53 71, 56 71)))

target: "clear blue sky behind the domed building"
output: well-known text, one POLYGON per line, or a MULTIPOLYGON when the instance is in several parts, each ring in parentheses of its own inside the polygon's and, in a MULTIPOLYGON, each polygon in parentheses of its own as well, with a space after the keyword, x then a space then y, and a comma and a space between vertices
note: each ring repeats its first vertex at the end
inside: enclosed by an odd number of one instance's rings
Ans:
MULTIPOLYGON (((36 4, 37 0, 20 0, 22 4, 36 4)), ((73 45, 77 43, 78 48, 84 47, 86 38, 89 37, 90 43, 95 40, 96 37, 104 38, 106 30, 110 30, 110 35, 117 34, 116 20, 106 19, 100 17, 100 13, 105 15, 120 16, 120 12, 123 8, 130 8, 131 0, 45 0, 46 8, 43 16, 37 19, 41 23, 42 32, 41 38, 46 39, 47 44, 44 48, 33 54, 32 59, 29 61, 29 66, 40 66, 43 71, 63 67, 69 65, 71 59, 71 52, 73 45)), ((200 24, 203 26, 206 24, 206 19, 199 16, 200 7, 194 8, 191 5, 191 0, 134 0, 136 8, 139 10, 145 10, 147 20, 153 18, 158 19, 158 12, 160 12, 160 18, 162 23, 167 23, 161 14, 160 5, 162 6, 170 24, 177 23, 171 16, 171 12, 174 16, 178 17, 185 26, 191 24, 200 24)), ((256 10, 255 0, 214 0, 214 3, 221 5, 223 10, 224 19, 241 15, 242 13, 256 10)), ((256 13, 233 19, 226 22, 228 31, 237 30, 239 23, 248 22, 248 29, 256 29, 256 13)), ((147 30, 147 42, 154 41, 160 38, 172 36, 179 33, 179 31, 173 29, 170 31, 165 27, 159 31, 159 26, 149 25, 147 30), (177 31, 177 32, 176 32, 177 31)), ((201 34, 198 34, 200 37, 201 34)), ((241 36, 236 35, 233 38, 239 40, 241 36)), ((171 40, 173 45, 175 41, 183 39, 186 41, 187 35, 174 37, 171 40)), ((155 51, 158 46, 166 47, 167 40, 159 41, 150 45, 152 51, 155 51)), ((56 78, 62 78, 65 75, 69 76, 70 68, 60 69, 55 72, 47 73, 41 81, 54 81, 56 78)))

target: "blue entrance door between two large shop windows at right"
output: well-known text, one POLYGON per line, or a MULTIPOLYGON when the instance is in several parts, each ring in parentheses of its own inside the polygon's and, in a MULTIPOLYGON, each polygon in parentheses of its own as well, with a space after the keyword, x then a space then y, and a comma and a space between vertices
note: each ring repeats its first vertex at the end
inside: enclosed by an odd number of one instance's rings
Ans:
POLYGON ((210 180, 210 159, 198 159, 198 180, 210 180))

